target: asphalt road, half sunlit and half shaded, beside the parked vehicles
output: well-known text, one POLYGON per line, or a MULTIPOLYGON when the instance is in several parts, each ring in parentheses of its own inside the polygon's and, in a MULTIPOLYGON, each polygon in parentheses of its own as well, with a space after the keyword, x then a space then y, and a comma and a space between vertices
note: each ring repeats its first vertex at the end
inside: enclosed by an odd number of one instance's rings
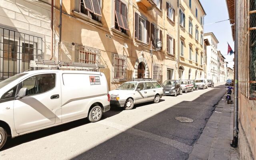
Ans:
POLYGON ((164 96, 133 110, 112 108, 96 123, 82 119, 9 138, 0 160, 186 160, 224 94, 221 85, 164 96))

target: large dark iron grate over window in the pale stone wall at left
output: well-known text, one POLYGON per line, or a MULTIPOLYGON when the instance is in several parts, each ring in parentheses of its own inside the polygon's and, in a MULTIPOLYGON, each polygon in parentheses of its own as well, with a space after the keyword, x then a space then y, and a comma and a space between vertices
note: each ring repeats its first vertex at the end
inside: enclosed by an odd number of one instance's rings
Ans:
POLYGON ((30 60, 43 59, 42 38, 0 27, 0 80, 5 80, 30 67, 30 60))

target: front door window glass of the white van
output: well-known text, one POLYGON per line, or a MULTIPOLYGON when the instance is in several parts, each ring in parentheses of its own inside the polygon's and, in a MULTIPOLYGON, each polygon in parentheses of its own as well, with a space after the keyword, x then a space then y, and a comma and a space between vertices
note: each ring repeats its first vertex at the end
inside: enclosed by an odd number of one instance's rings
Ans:
POLYGON ((40 74, 22 82, 22 88, 28 88, 28 96, 47 92, 55 88, 56 74, 40 74))

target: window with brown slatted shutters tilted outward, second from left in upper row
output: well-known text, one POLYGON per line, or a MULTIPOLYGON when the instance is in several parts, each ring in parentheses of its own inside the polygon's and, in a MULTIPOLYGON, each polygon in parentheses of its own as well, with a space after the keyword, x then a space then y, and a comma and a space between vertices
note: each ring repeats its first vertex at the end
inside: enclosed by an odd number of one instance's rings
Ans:
POLYGON ((126 30, 129 30, 127 22, 127 8, 126 4, 120 0, 116 0, 115 15, 115 28, 126 34, 126 30))

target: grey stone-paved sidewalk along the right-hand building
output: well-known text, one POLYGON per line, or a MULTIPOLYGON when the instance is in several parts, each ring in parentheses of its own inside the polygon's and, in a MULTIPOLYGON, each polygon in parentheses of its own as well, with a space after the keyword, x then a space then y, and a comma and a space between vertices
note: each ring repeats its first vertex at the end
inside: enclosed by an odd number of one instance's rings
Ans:
POLYGON ((226 94, 216 106, 188 160, 238 160, 237 150, 230 147, 234 101, 227 104, 225 98, 226 94))

